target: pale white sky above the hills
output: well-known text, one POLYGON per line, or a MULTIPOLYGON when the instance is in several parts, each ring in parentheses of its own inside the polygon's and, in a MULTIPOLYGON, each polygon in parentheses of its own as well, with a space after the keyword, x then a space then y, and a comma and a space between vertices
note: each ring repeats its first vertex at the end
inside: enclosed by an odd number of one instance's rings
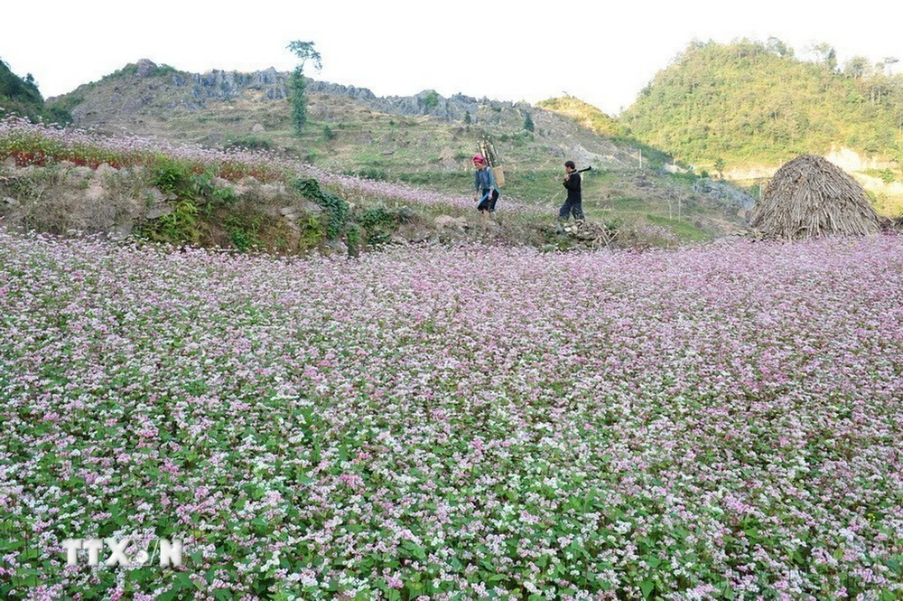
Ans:
POLYGON ((10 0, 0 7, 0 59, 32 73, 48 98, 142 58, 192 72, 291 70, 285 46, 301 40, 323 60, 305 74, 378 96, 435 89, 535 103, 567 92, 610 114, 694 38, 775 36, 797 56, 828 42, 840 64, 893 56, 903 70, 903 3, 832 4, 10 0))

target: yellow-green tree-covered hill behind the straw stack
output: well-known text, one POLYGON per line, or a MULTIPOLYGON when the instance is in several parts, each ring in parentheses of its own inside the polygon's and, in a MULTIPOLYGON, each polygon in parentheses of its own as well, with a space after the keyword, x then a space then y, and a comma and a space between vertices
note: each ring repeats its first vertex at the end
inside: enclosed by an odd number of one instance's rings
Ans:
POLYGON ((621 123, 687 164, 779 164, 836 146, 903 159, 903 75, 860 57, 838 68, 823 51, 811 62, 774 38, 692 42, 621 123))

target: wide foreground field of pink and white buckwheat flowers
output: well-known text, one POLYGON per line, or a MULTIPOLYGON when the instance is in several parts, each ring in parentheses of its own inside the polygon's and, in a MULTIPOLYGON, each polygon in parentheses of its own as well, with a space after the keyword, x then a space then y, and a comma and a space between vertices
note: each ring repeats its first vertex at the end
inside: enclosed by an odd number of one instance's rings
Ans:
POLYGON ((0 596, 903 596, 898 236, 0 266, 0 596))

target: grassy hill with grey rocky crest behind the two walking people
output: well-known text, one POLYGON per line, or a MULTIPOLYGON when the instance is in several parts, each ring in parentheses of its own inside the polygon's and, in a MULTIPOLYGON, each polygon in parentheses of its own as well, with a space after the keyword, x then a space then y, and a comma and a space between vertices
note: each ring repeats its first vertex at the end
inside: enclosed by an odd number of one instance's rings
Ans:
MULTIPOLYGON (((489 136, 505 167, 503 208, 523 202, 554 217, 563 202, 563 162, 571 158, 594 167, 584 186, 592 220, 661 226, 684 239, 735 230, 740 210, 752 202, 736 189, 694 186, 695 177, 666 174, 664 153, 600 135, 592 122, 585 127, 558 108, 526 103, 445 99, 430 90, 377 98, 366 89, 311 81, 309 122, 299 137, 285 78, 275 70, 192 74, 139 61, 53 102, 70 108, 80 127, 262 150, 387 189, 415 187, 425 197, 456 195, 465 202, 473 185, 470 157, 489 136)), ((596 113, 597 122, 610 123, 596 113)))

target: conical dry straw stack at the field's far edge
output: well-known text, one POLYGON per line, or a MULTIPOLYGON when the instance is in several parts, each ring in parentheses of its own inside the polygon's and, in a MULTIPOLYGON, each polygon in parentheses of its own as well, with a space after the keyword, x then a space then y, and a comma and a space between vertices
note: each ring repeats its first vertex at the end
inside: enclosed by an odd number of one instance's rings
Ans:
POLYGON ((781 239, 864 236, 879 230, 879 218, 856 180, 821 156, 802 155, 777 170, 752 227, 781 239))

